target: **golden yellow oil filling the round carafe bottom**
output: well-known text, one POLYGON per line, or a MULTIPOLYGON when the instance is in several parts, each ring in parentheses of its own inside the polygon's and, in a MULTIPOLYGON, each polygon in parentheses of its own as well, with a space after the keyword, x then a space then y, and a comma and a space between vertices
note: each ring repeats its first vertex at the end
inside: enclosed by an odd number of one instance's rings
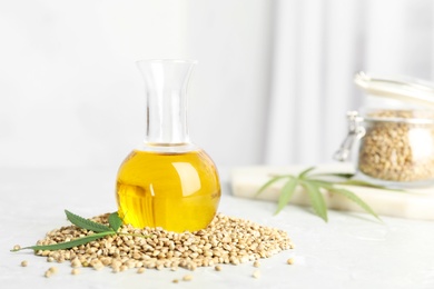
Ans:
POLYGON ((203 150, 134 150, 119 168, 116 197, 126 223, 196 231, 215 217, 220 185, 213 160, 203 150))

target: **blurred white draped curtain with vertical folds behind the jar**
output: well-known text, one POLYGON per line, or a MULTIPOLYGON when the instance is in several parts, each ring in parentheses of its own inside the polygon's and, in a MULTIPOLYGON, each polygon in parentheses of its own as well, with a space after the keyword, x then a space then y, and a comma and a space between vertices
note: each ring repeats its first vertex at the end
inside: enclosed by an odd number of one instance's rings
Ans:
POLYGON ((346 111, 366 104, 357 71, 432 78, 430 0, 280 0, 274 11, 265 163, 333 161, 346 111))

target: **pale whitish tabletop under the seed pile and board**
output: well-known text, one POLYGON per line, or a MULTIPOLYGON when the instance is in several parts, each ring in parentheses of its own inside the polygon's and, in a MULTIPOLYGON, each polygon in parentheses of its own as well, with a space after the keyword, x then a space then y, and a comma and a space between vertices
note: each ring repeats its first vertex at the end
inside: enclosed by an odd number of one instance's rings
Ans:
MULTIPOLYGON (((112 273, 82 268, 72 276, 69 262, 49 263, 32 251, 10 252, 16 243, 33 245, 51 229, 68 225, 63 209, 85 217, 116 210, 115 170, 0 169, 0 288, 434 288, 434 222, 363 213, 329 212, 325 223, 308 210, 235 198, 228 170, 219 211, 288 232, 294 250, 260 260, 255 279, 251 262, 185 269, 112 273), (295 263, 286 265, 294 257, 295 263), (20 266, 28 260, 29 266, 20 266), (59 272, 45 278, 56 266, 59 272), (190 273, 189 282, 172 283, 190 273)), ((434 209, 434 208, 433 208, 434 209)))

